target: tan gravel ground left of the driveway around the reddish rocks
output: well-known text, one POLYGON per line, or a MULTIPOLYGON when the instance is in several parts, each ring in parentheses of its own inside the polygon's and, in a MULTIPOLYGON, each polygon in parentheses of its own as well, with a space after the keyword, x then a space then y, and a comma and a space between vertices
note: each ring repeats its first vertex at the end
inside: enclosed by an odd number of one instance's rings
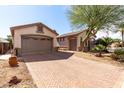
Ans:
POLYGON ((10 67, 7 61, 0 61, 0 87, 1 88, 35 88, 36 85, 33 82, 28 69, 23 62, 19 62, 18 67, 10 67), (21 82, 17 85, 9 86, 9 81, 13 76, 21 79, 21 82))

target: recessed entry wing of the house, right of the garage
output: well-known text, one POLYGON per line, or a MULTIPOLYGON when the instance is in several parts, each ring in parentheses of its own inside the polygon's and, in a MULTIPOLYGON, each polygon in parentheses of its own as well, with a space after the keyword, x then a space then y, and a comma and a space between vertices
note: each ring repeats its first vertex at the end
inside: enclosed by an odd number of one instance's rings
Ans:
POLYGON ((93 47, 94 38, 86 40, 86 31, 71 32, 57 36, 60 49, 72 51, 89 51, 93 47))

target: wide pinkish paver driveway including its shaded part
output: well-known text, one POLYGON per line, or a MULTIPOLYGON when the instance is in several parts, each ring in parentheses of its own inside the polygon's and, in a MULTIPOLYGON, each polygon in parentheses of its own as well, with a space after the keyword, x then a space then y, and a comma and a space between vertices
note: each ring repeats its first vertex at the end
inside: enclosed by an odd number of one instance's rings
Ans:
POLYGON ((113 87, 123 69, 78 58, 72 53, 24 56, 38 87, 113 87))

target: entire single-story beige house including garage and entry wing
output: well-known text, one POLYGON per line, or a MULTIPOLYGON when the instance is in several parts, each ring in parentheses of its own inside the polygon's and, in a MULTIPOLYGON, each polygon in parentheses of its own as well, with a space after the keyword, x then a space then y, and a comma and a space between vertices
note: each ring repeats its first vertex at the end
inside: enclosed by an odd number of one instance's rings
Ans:
POLYGON ((87 51, 92 47, 92 38, 85 40, 87 30, 59 35, 40 22, 14 26, 10 30, 13 48, 18 56, 51 52, 58 47, 72 51, 87 51))

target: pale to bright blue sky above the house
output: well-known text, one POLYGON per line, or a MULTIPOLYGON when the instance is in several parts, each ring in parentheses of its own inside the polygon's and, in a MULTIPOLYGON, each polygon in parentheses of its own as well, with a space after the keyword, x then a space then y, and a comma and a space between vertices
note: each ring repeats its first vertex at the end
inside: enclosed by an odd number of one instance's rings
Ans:
MULTIPOLYGON (((42 22, 59 34, 72 32, 71 24, 67 18, 69 6, 35 5, 35 6, 0 6, 0 37, 5 38, 10 34, 9 27, 35 22, 42 22)), ((98 33, 98 37, 106 36, 98 33)), ((110 35, 111 36, 111 35, 110 35)), ((113 34, 112 37, 120 37, 113 34)))

